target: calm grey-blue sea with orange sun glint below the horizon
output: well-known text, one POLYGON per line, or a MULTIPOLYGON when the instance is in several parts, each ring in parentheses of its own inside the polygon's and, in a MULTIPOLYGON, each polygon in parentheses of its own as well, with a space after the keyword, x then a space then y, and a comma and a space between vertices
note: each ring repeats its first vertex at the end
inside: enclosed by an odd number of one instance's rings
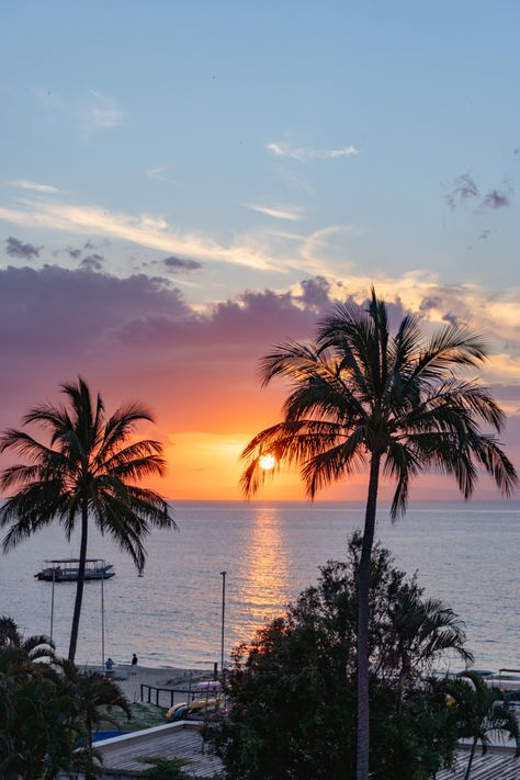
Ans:
MULTIPOLYGON (((109 540, 91 534, 89 554, 114 564, 104 584, 105 655, 149 666, 211 666, 221 655, 221 572, 227 570, 226 652, 343 556, 362 524, 352 504, 176 505, 179 533, 156 532, 139 578, 109 540)), ((377 535, 429 595, 465 620, 476 666, 520 668, 520 504, 414 504, 405 519, 378 515, 377 535)), ((0 558, 0 613, 26 633, 48 633, 52 585, 33 574, 46 557, 76 555, 59 527, 0 558)), ((75 585, 55 591, 54 636, 67 652, 75 585)), ((101 587, 87 583, 78 658, 101 660, 101 587)))

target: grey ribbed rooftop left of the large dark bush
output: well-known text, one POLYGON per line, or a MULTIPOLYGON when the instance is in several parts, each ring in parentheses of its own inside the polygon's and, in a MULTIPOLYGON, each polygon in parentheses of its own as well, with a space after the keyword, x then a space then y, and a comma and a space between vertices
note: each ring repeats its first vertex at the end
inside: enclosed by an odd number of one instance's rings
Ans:
POLYGON ((186 758, 185 770, 195 778, 213 778, 222 770, 221 760, 208 751, 200 734, 200 724, 181 721, 156 728, 134 732, 95 745, 103 757, 103 777, 121 780, 138 778, 148 765, 144 756, 186 758))

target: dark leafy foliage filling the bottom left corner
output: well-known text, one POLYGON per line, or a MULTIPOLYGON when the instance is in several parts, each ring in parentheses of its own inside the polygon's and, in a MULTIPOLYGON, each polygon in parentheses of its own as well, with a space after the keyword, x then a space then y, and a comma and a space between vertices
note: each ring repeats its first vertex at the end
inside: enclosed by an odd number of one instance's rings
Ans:
POLYGON ((0 619, 0 777, 50 780, 71 768, 97 776, 91 736, 103 706, 129 712, 112 680, 55 659, 48 640, 24 638, 0 619))

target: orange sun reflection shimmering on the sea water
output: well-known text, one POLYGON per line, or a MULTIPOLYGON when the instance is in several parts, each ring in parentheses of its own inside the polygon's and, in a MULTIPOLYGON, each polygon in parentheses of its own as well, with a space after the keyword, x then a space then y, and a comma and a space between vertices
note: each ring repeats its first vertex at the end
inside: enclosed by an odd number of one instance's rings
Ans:
POLYGON ((236 629, 249 641, 265 619, 281 613, 289 600, 289 553, 280 511, 259 508, 237 573, 236 629))

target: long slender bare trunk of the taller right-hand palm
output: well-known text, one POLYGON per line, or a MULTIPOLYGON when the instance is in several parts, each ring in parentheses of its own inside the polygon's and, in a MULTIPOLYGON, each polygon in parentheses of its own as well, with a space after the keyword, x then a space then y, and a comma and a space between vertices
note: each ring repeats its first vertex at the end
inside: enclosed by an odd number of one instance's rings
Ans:
POLYGON ((369 496, 364 517, 363 545, 358 569, 358 750, 357 780, 369 780, 370 700, 369 700, 369 595, 370 564, 374 542, 375 510, 380 482, 381 455, 372 453, 369 496))

